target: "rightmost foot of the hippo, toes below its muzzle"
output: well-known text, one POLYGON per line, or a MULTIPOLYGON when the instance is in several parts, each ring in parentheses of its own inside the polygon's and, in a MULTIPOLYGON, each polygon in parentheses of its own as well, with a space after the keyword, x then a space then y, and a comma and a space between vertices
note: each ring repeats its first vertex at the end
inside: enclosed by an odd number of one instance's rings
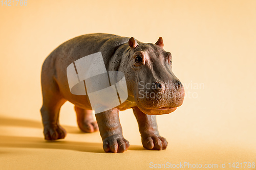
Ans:
POLYGON ((142 145, 147 150, 165 150, 168 142, 164 137, 151 134, 142 136, 142 145))

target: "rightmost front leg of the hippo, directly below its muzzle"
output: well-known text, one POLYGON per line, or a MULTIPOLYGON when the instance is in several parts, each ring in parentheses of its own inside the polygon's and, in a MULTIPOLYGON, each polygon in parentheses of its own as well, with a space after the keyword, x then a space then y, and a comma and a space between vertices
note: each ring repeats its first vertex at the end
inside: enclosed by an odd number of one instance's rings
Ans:
POLYGON ((166 149, 168 142, 159 135, 156 116, 143 113, 137 106, 133 107, 133 112, 139 124, 143 147, 148 150, 166 149))

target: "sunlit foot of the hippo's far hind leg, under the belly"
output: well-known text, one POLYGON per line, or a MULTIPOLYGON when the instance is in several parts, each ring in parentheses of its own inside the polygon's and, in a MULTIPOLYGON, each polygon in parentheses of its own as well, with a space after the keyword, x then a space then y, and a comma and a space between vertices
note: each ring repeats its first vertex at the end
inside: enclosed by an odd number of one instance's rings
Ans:
POLYGON ((83 120, 83 122, 78 122, 78 127, 81 131, 86 133, 95 132, 99 130, 97 122, 90 117, 88 119, 83 120))

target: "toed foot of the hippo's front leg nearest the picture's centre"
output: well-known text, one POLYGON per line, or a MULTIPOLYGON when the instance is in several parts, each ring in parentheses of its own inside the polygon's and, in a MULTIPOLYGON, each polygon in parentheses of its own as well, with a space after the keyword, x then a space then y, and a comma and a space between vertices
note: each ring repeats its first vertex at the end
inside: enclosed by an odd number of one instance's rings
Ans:
POLYGON ((122 135, 116 134, 103 139, 103 149, 105 152, 124 152, 130 147, 129 141, 122 135))

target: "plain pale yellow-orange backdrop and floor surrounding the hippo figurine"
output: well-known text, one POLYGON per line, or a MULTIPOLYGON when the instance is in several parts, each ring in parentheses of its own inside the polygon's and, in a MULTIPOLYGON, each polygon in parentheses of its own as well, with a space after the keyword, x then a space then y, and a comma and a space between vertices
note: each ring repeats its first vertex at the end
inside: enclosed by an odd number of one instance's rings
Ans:
POLYGON ((3 169, 151 169, 150 162, 226 162, 229 169, 229 162, 256 162, 256 1, 28 0, 0 6, 0 14, 3 169), (60 113, 68 136, 44 141, 42 62, 62 42, 97 32, 153 43, 163 37, 186 91, 180 108, 157 117, 166 151, 143 150, 129 109, 120 120, 130 149, 105 154, 98 132, 78 130, 68 102, 60 113))

